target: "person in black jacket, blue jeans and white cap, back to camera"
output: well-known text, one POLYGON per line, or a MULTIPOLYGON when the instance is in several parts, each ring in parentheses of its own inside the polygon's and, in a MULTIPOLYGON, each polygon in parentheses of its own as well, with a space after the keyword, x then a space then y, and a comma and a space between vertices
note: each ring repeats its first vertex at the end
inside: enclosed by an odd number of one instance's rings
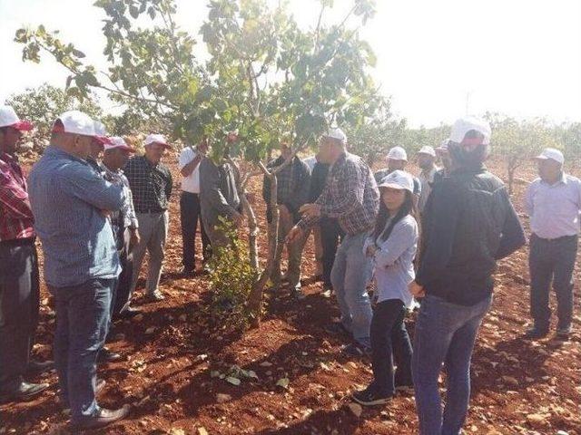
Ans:
POLYGON ((424 210, 425 247, 412 295, 425 296, 416 323, 412 372, 421 435, 457 435, 466 420, 470 359, 492 302, 497 259, 526 240, 502 181, 487 171, 490 127, 456 121, 448 142, 449 176, 424 210), (438 375, 447 374, 442 414, 438 375))

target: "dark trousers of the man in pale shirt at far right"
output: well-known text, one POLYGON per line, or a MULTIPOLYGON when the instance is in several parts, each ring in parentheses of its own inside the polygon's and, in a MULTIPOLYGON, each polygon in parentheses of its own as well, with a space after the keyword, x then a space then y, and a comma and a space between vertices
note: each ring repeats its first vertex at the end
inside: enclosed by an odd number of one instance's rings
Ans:
POLYGON ((556 293, 557 328, 571 325, 573 316, 573 269, 577 255, 577 237, 546 239, 530 237, 530 313, 535 325, 548 329, 551 283, 556 293))

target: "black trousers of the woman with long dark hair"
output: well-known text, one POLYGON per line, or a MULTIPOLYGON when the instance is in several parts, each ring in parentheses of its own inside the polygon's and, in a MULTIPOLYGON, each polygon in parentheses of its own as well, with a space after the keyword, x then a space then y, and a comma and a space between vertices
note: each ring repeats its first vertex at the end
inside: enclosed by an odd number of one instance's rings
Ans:
POLYGON ((399 299, 380 302, 373 310, 369 337, 374 387, 382 394, 393 395, 395 384, 411 385, 412 348, 404 323, 406 307, 399 299), (393 373, 393 362, 398 370, 393 373))

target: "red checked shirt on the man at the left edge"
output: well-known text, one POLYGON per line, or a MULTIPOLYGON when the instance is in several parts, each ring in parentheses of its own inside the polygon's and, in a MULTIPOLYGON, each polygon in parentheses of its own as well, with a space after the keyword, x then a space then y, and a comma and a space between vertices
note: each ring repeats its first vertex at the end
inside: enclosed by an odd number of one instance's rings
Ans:
POLYGON ((34 237, 25 174, 14 157, 0 154, 0 242, 34 237))

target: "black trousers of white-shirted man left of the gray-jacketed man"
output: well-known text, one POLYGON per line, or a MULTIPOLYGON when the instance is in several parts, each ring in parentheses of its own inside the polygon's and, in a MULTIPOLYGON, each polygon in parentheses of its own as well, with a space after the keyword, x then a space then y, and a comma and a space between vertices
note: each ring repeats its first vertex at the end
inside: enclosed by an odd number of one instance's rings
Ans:
POLYGON ((186 269, 195 268, 196 252, 196 231, 198 221, 200 222, 200 232, 202 233, 202 256, 203 261, 210 258, 210 238, 202 223, 202 208, 200 206, 200 196, 197 193, 182 191, 180 198, 180 218, 182 220, 182 265, 186 269))

